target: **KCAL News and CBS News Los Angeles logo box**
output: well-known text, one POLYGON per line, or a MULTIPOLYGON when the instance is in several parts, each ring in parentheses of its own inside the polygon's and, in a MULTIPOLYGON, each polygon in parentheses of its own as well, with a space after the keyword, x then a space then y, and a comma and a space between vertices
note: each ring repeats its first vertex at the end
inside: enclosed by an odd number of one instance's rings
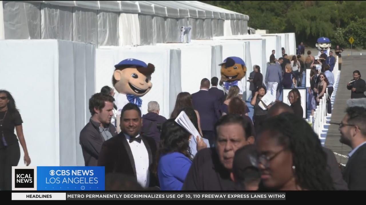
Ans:
POLYGON ((12 167, 12 190, 104 191, 104 167, 12 167))

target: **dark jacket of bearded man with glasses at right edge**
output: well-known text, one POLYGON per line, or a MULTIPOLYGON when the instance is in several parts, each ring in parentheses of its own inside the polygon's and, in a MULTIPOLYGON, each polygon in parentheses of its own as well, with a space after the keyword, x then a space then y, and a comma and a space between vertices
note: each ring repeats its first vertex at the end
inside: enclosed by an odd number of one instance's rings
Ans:
POLYGON ((366 144, 359 147, 348 159, 343 179, 349 190, 366 190, 366 144))

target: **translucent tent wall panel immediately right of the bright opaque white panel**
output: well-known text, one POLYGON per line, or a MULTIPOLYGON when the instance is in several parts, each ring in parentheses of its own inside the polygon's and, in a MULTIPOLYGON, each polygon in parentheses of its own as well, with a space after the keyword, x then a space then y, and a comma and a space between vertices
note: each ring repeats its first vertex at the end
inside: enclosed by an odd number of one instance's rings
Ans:
POLYGON ((142 45, 153 44, 153 18, 150 15, 138 15, 140 40, 142 45))

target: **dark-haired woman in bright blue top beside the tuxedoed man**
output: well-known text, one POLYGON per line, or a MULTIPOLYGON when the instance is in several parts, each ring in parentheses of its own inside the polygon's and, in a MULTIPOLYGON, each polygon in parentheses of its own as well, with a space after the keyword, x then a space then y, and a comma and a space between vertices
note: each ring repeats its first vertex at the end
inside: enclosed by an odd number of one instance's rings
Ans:
POLYGON ((191 134, 174 120, 165 121, 161 128, 157 166, 160 190, 181 190, 192 164, 191 134))

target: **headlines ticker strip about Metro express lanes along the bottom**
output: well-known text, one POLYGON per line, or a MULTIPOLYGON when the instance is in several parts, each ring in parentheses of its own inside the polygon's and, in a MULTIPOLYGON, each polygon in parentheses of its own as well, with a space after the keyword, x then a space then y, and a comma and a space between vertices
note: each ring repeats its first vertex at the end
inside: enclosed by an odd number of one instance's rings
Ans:
POLYGON ((286 200, 285 193, 11 193, 12 200, 286 200))

